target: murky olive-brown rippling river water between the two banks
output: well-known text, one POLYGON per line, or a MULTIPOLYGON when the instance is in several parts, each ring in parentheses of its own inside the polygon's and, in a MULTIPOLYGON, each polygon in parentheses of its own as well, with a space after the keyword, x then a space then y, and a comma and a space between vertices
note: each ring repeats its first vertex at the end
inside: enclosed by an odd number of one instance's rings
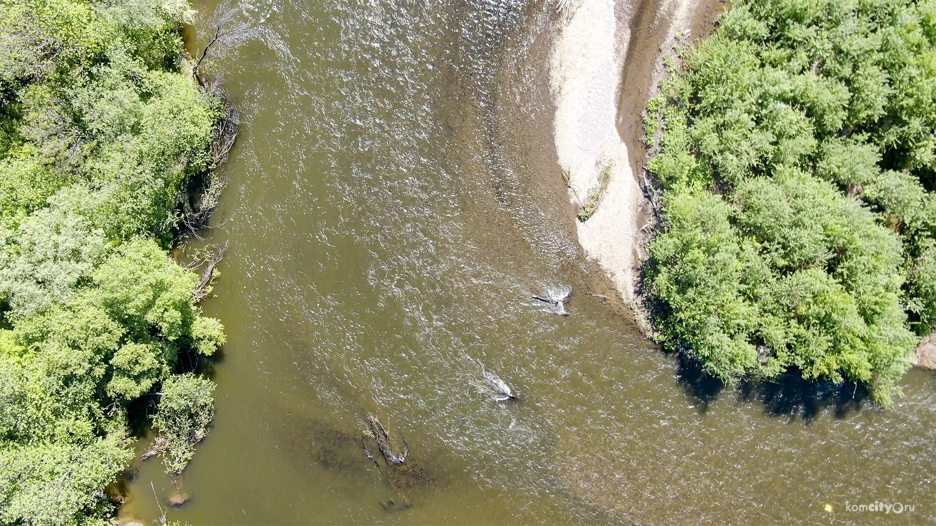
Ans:
MULTIPOLYGON (((227 328, 217 414, 169 520, 936 521, 932 374, 908 373, 891 411, 858 390, 814 415, 792 388, 710 399, 602 298, 551 150, 551 3, 248 14, 266 33, 225 66, 230 183, 187 247, 230 243, 203 302, 227 328), (531 300, 563 285, 568 316, 531 300), (479 392, 482 366, 519 400, 479 392), (369 415, 407 471, 367 458, 369 415)), ((135 468, 124 517, 167 509, 162 469, 135 468)))

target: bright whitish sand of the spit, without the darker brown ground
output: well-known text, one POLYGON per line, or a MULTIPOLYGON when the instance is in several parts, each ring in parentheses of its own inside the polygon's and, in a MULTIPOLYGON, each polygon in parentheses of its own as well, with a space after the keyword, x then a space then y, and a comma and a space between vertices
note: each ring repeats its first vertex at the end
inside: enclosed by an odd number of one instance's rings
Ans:
MULTIPOLYGON (((597 212, 588 221, 578 222, 578 242, 585 255, 605 270, 622 300, 631 305, 640 263, 636 245, 641 225, 637 221, 644 196, 615 121, 637 2, 573 1, 549 65, 556 101, 556 153, 560 166, 570 173, 572 202, 584 203, 599 175, 611 166, 610 182, 597 212)), ((657 15, 671 21, 667 42, 689 28, 696 3, 661 2, 657 15)))

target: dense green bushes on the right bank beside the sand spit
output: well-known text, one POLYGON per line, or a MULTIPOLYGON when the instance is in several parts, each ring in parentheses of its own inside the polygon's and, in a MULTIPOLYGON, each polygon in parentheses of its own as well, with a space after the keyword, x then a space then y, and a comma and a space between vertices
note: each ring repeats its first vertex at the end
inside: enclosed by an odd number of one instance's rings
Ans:
POLYGON ((644 292, 726 384, 888 406, 936 327, 936 4, 739 0, 651 100, 664 190, 644 292))

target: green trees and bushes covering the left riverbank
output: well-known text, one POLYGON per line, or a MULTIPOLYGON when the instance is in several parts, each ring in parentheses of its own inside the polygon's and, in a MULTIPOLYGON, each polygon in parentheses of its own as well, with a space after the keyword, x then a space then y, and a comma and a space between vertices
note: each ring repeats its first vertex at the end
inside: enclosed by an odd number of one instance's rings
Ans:
POLYGON ((185 0, 0 1, 2 523, 110 523, 131 402, 158 402, 168 471, 207 432, 213 384, 179 358, 224 331, 168 254, 227 112, 183 56, 193 15, 185 0))

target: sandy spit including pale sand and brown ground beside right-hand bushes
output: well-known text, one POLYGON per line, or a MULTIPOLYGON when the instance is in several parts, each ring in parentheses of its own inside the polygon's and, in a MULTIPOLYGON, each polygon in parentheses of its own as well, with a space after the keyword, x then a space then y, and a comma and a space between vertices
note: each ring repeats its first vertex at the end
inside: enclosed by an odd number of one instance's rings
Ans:
POLYGON ((596 212, 577 222, 578 242, 632 307, 651 221, 639 183, 645 165, 640 114, 663 75, 665 53, 678 36, 704 33, 718 4, 573 1, 550 56, 554 139, 570 201, 584 204, 601 174, 610 171, 596 212))

